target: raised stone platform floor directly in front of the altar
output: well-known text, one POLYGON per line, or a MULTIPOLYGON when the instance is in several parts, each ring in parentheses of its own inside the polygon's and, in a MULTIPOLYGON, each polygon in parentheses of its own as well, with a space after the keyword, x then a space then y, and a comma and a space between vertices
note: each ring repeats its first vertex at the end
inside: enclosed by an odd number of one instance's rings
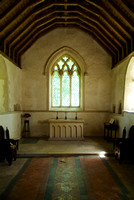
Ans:
POLYGON ((18 154, 45 155, 79 155, 113 153, 113 144, 107 143, 103 137, 86 137, 81 141, 55 141, 48 138, 24 138, 20 141, 18 154))

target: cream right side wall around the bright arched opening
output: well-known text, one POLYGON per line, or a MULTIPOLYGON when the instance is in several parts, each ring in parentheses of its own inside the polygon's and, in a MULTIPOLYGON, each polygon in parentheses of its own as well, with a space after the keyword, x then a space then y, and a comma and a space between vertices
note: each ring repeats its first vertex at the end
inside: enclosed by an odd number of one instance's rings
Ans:
POLYGON ((134 125, 134 113, 128 113, 124 111, 124 91, 125 91, 125 79, 126 79, 126 71, 131 59, 131 56, 128 56, 125 60, 120 62, 115 68, 112 70, 112 101, 111 108, 115 105, 115 113, 110 116, 115 118, 117 123, 119 124, 119 137, 122 136, 123 128, 128 131, 132 125, 134 125), (121 102, 121 114, 119 113, 119 105, 121 102))

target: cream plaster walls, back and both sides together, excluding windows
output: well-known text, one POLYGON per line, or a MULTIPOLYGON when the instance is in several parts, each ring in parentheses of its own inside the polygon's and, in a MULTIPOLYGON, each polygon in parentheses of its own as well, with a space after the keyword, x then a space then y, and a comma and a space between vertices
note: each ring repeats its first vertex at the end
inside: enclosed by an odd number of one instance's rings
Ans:
MULTIPOLYGON (((24 113, 17 110, 22 109, 31 114, 31 136, 49 135, 47 120, 55 118, 56 112, 48 111, 48 76, 44 70, 50 56, 64 46, 78 52, 85 62, 84 110, 78 112, 78 117, 85 120, 84 135, 103 135, 103 123, 110 117, 118 121, 119 136, 124 126, 128 132, 134 124, 134 114, 118 112, 120 103, 123 110, 125 75, 131 56, 111 70, 111 57, 91 36, 76 29, 56 29, 37 40, 22 56, 22 70, 0 54, 0 66, 6 69, 8 85, 0 125, 9 128, 11 137, 21 137, 24 113), (115 113, 110 112, 113 105, 115 113)), ((74 118, 75 112, 67 115, 74 118)), ((65 113, 59 112, 59 117, 64 118, 65 113)))

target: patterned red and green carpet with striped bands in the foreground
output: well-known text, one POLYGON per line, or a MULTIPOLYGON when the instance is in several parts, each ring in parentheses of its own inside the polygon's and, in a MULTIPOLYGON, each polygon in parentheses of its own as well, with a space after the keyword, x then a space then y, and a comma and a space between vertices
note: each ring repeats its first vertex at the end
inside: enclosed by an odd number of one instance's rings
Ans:
POLYGON ((1 200, 128 200, 127 189, 105 158, 29 158, 1 200))

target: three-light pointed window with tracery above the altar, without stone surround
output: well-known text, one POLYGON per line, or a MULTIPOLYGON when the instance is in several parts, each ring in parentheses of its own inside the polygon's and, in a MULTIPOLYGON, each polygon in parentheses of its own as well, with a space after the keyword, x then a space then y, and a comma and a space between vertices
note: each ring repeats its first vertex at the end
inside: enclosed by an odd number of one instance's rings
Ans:
POLYGON ((81 69, 70 56, 62 56, 51 68, 52 108, 80 107, 81 69))

